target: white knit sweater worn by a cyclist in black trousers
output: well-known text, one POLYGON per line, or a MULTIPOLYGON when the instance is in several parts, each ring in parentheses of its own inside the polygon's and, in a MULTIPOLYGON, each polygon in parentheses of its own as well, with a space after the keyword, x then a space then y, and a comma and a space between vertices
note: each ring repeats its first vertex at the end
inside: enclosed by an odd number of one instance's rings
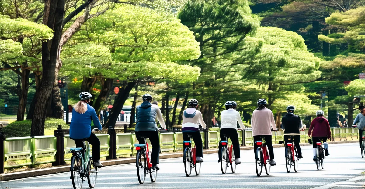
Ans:
POLYGON ((220 117, 220 129, 237 129, 237 122, 242 129, 245 129, 241 116, 235 109, 223 110, 220 117))

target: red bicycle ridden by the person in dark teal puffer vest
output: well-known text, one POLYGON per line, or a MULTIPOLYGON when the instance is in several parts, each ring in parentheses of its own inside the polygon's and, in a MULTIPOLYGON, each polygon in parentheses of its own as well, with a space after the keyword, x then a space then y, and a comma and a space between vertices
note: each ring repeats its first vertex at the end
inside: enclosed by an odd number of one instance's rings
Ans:
MULTIPOLYGON (((160 130, 159 130, 160 131, 160 130)), ((166 130, 165 130, 166 131, 166 130)), ((151 182, 155 182, 157 178, 157 170, 152 168, 151 154, 148 149, 147 136, 140 135, 139 137, 145 140, 145 144, 134 144, 137 150, 136 167, 139 184, 143 184, 146 179, 146 174, 150 173, 151 182), (148 154, 148 155, 147 155, 148 154)))

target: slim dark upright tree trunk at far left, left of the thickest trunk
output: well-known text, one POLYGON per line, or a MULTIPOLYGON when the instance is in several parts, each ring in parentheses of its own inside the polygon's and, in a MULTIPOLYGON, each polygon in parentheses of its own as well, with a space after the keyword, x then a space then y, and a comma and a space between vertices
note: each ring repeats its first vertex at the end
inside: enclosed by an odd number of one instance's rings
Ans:
POLYGON ((28 67, 27 61, 22 66, 22 90, 19 96, 19 107, 18 113, 16 114, 16 121, 23 121, 24 120, 24 112, 25 106, 27 105, 27 98, 28 98, 28 85, 29 85, 29 73, 30 70, 24 69, 28 67))

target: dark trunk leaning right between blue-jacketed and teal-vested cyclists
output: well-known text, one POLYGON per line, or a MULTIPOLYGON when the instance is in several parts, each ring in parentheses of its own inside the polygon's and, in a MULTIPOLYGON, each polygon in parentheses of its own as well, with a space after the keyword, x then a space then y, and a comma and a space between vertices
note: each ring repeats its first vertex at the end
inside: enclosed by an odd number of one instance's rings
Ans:
POLYGON ((118 96, 114 100, 113 108, 111 110, 111 113, 109 114, 108 120, 103 125, 104 127, 114 128, 119 113, 120 111, 122 111, 123 105, 126 102, 129 93, 136 84, 137 84, 136 81, 129 82, 126 84, 126 86, 122 87, 119 90, 118 96))

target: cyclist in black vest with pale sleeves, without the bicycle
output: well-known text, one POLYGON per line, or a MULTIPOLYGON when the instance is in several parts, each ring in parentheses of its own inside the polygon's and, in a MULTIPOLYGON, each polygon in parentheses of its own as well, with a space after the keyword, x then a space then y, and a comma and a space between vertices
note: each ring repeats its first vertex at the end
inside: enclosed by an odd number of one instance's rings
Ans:
POLYGON ((294 138, 294 145, 298 152, 298 157, 303 158, 300 150, 300 133, 302 129, 302 123, 300 117, 294 114, 295 106, 287 107, 287 114, 281 118, 282 128, 284 129, 284 141, 285 141, 285 156, 288 154, 288 142, 291 137, 294 138))

